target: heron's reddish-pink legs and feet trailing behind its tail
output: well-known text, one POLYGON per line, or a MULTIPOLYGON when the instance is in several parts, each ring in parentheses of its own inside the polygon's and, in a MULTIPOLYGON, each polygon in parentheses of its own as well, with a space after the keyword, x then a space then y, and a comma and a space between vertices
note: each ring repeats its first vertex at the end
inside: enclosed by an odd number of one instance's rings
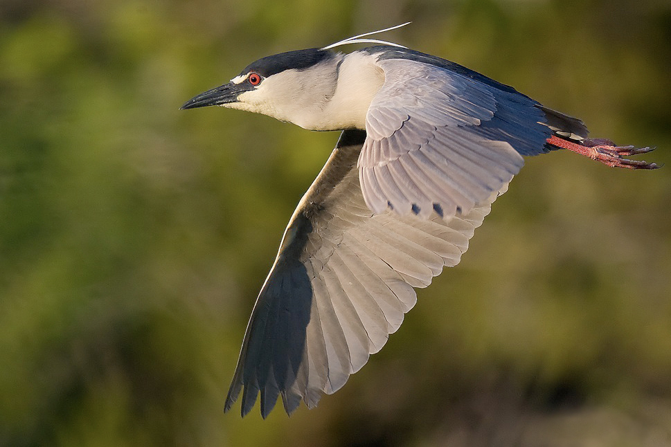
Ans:
POLYGON ((627 169, 657 169, 660 167, 656 163, 647 163, 642 160, 629 160, 625 156, 645 154, 654 150, 654 147, 634 147, 634 146, 616 146, 611 140, 602 138, 585 138, 580 143, 564 140, 558 136, 551 136, 547 143, 562 149, 587 156, 592 160, 611 167, 625 167, 627 169))

